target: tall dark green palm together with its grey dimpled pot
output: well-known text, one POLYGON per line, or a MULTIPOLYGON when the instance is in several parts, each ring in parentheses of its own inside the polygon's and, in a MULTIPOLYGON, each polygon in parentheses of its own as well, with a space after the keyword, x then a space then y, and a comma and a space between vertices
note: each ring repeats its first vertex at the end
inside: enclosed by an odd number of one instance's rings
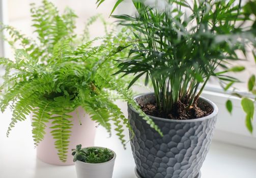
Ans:
POLYGON ((255 39, 252 19, 242 1, 154 2, 132 0, 135 16, 113 16, 136 39, 116 74, 134 74, 129 86, 146 76, 154 88, 134 98, 140 108, 127 99, 136 172, 144 178, 200 177, 218 113, 200 96, 211 76, 238 81, 225 73, 244 70, 232 64, 255 39))

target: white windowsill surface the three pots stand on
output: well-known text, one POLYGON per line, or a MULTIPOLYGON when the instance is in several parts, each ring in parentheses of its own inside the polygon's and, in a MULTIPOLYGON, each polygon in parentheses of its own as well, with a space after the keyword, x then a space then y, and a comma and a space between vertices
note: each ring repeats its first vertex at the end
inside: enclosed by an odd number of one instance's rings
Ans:
MULTIPOLYGON (((36 158, 29 120, 18 123, 6 138, 10 113, 0 114, 0 177, 1 178, 75 178, 75 166, 53 166, 36 158)), ((128 134, 128 133, 126 133, 128 134)), ((134 161, 129 143, 124 150, 115 135, 101 127, 96 146, 109 147, 117 153, 113 178, 135 178, 134 161)), ((256 151, 226 143, 213 142, 202 167, 202 178, 256 177, 256 151)), ((104 178, 104 177, 103 177, 104 178)))

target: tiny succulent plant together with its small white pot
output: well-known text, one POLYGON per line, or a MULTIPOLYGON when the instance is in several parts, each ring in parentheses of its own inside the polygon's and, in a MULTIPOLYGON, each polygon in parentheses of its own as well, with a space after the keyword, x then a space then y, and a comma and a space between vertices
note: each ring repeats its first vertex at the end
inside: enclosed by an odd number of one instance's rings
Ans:
POLYGON ((72 150, 78 178, 111 178, 116 153, 104 147, 81 147, 72 150))

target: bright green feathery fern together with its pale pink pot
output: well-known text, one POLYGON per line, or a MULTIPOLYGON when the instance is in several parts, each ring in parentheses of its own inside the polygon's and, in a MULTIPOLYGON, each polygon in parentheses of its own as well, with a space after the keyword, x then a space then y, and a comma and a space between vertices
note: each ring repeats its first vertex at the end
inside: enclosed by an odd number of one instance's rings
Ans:
POLYGON ((78 38, 72 10, 66 9, 60 15, 52 3, 42 1, 42 6, 32 5, 31 12, 37 39, 27 38, 8 25, 1 28, 10 35, 4 38, 15 51, 14 60, 2 57, 0 61, 5 68, 0 107, 2 112, 8 106, 12 110, 7 136, 17 122, 32 113, 33 138, 40 148, 38 157, 62 165, 73 163, 71 148, 78 142, 93 145, 95 122, 109 134, 113 122, 124 144, 123 124, 129 124, 113 103, 115 98, 107 82, 126 84, 111 76, 117 71, 113 59, 124 55, 120 44, 127 45, 126 33, 117 34, 111 29, 105 37, 89 40, 87 26, 78 38), (95 41, 100 45, 96 46, 95 41), (49 142, 52 145, 46 144, 49 142), (55 150, 46 150, 49 147, 55 150))

